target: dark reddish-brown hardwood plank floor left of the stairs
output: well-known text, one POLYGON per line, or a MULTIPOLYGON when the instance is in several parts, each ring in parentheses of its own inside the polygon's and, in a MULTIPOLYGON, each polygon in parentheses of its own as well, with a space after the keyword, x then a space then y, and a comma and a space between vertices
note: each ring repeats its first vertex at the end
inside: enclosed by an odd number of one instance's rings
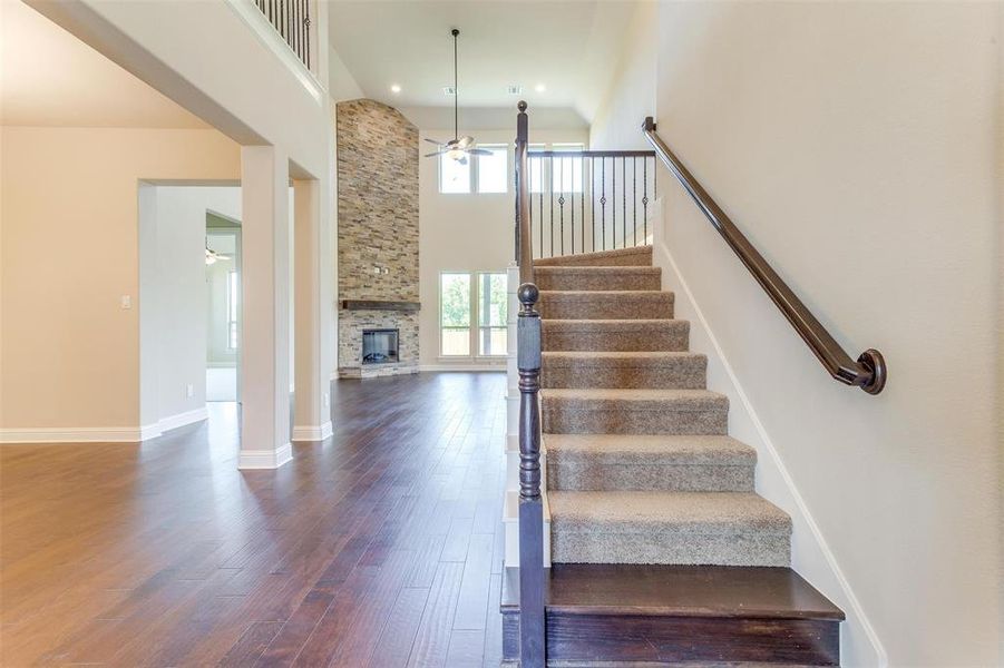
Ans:
POLYGON ((237 420, 0 448, 0 658, 499 665, 505 375, 333 383, 333 439, 236 470, 237 420))

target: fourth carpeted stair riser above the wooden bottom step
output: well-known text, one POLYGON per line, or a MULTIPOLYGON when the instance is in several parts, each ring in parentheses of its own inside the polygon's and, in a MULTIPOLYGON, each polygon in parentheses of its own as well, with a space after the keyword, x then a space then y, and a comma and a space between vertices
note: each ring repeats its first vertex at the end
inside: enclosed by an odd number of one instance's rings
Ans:
POLYGON ((544 387, 621 387, 703 390, 706 386, 706 360, 681 357, 650 365, 614 366, 588 361, 567 366, 549 366, 544 362, 544 387))

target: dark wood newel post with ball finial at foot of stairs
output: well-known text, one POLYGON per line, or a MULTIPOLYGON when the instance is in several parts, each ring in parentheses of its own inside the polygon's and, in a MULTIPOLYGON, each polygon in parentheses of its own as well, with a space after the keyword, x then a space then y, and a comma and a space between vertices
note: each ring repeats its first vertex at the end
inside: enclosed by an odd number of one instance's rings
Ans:
POLYGON ((544 505, 540 499, 540 314, 539 293, 524 283, 517 293, 519 371, 519 661, 544 667, 544 505))

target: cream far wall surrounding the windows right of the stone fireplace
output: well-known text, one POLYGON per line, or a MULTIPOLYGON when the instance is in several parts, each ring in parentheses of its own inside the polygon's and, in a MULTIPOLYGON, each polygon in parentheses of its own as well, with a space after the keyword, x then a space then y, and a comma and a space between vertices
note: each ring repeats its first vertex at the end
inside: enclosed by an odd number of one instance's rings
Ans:
MULTIPOLYGON (((509 130, 478 130, 479 144, 513 144, 509 130)), ((583 143, 585 130, 534 130, 530 111, 530 143, 583 143)), ((422 130, 421 137, 443 139, 452 130, 422 130)), ((422 141, 421 153, 432 146, 422 141)), ((513 193, 513 150, 509 150, 509 191, 505 194, 443 195, 439 193, 438 160, 419 160, 419 230, 421 304, 419 338, 425 369, 486 365, 474 358, 439 357, 439 274, 459 272, 504 272, 513 262, 515 194, 513 193)))

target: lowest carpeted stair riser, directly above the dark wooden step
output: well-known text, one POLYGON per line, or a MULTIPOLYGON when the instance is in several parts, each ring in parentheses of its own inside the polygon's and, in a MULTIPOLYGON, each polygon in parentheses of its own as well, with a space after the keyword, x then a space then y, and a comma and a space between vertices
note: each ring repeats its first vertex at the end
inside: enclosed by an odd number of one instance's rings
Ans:
POLYGON ((686 531, 586 533, 552 522, 553 563, 674 563, 694 566, 790 564, 791 537, 749 530, 701 534, 686 531))

